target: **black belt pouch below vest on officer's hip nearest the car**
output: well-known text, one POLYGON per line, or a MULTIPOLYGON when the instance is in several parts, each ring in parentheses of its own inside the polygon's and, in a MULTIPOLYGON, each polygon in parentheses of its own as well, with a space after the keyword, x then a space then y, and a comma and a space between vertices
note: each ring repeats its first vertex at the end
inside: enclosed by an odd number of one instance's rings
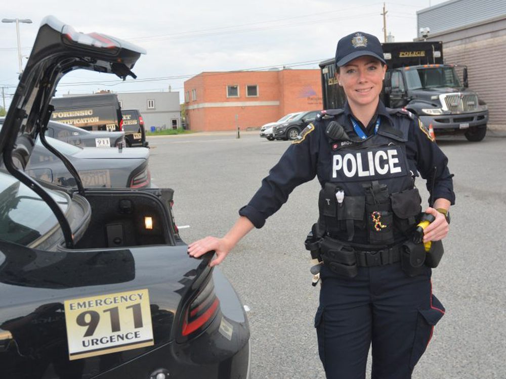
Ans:
POLYGON ((346 277, 355 277, 358 274, 355 250, 343 245, 338 240, 325 237, 320 243, 321 257, 333 272, 346 277))

